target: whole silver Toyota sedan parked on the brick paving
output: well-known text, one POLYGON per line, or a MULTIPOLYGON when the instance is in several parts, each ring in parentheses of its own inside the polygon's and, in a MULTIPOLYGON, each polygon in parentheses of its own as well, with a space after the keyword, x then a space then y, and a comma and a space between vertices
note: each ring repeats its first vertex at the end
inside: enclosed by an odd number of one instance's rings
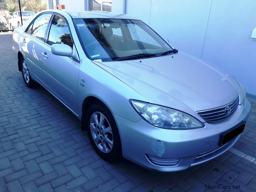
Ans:
POLYGON ((108 161, 184 170, 227 151, 249 116, 234 76, 128 15, 39 12, 14 30, 13 49, 25 84, 77 116, 108 161))

